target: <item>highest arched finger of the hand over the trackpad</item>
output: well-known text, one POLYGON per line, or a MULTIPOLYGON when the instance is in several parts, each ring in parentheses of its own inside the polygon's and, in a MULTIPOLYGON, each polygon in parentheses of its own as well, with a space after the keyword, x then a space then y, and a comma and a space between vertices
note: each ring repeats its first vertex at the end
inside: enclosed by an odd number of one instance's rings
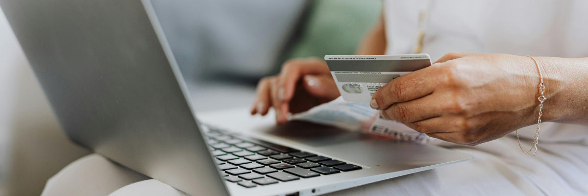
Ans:
POLYGON ((304 75, 320 74, 330 74, 329 67, 321 59, 296 59, 286 62, 278 79, 279 101, 288 102, 292 99, 296 84, 304 75))

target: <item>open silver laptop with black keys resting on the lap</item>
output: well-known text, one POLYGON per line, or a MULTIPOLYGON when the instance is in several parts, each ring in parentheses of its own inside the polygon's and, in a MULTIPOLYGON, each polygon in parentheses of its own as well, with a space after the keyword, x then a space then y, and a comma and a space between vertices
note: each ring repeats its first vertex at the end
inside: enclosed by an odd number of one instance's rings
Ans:
POLYGON ((148 0, 0 6, 72 141, 191 195, 319 195, 472 158, 245 114, 203 125, 148 0))

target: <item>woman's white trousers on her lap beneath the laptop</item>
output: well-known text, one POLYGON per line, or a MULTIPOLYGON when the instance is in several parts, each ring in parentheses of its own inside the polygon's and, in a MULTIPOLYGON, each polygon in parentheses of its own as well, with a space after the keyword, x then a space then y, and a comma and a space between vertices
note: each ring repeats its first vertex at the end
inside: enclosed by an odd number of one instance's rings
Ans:
MULTIPOLYGON (((588 132, 588 128, 581 125, 545 125, 553 132, 588 132)), ((532 131, 532 128, 521 131, 532 131)), ((572 135, 563 138, 568 136, 572 135)), ((539 145, 537 157, 523 155, 513 135, 476 147, 437 141, 435 145, 463 151, 475 158, 330 195, 586 195, 586 141, 586 137, 571 142, 545 139, 539 145)), ((523 145, 530 145, 530 140, 523 140, 523 145)), ((162 182, 145 179, 137 172, 93 154, 72 162, 51 178, 43 196, 104 195, 108 190, 117 189, 110 195, 185 195, 162 182)))

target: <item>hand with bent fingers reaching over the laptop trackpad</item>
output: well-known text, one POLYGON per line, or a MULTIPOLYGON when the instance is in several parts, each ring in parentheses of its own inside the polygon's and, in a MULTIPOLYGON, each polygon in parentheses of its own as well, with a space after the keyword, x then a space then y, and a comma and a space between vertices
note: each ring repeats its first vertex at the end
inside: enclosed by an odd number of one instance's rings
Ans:
POLYGON ((276 123, 282 124, 290 113, 296 114, 339 97, 339 91, 326 62, 319 58, 292 59, 280 74, 259 81, 251 114, 276 111, 276 123))

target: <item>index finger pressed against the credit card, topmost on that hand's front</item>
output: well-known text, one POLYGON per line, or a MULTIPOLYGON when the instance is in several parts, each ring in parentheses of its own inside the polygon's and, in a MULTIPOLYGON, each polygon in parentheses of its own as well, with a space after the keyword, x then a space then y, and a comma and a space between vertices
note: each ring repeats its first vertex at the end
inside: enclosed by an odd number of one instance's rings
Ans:
POLYGON ((431 94, 436 86, 435 81, 439 78, 438 69, 439 67, 430 66, 392 79, 373 94, 370 106, 382 110, 398 102, 406 102, 431 94))

